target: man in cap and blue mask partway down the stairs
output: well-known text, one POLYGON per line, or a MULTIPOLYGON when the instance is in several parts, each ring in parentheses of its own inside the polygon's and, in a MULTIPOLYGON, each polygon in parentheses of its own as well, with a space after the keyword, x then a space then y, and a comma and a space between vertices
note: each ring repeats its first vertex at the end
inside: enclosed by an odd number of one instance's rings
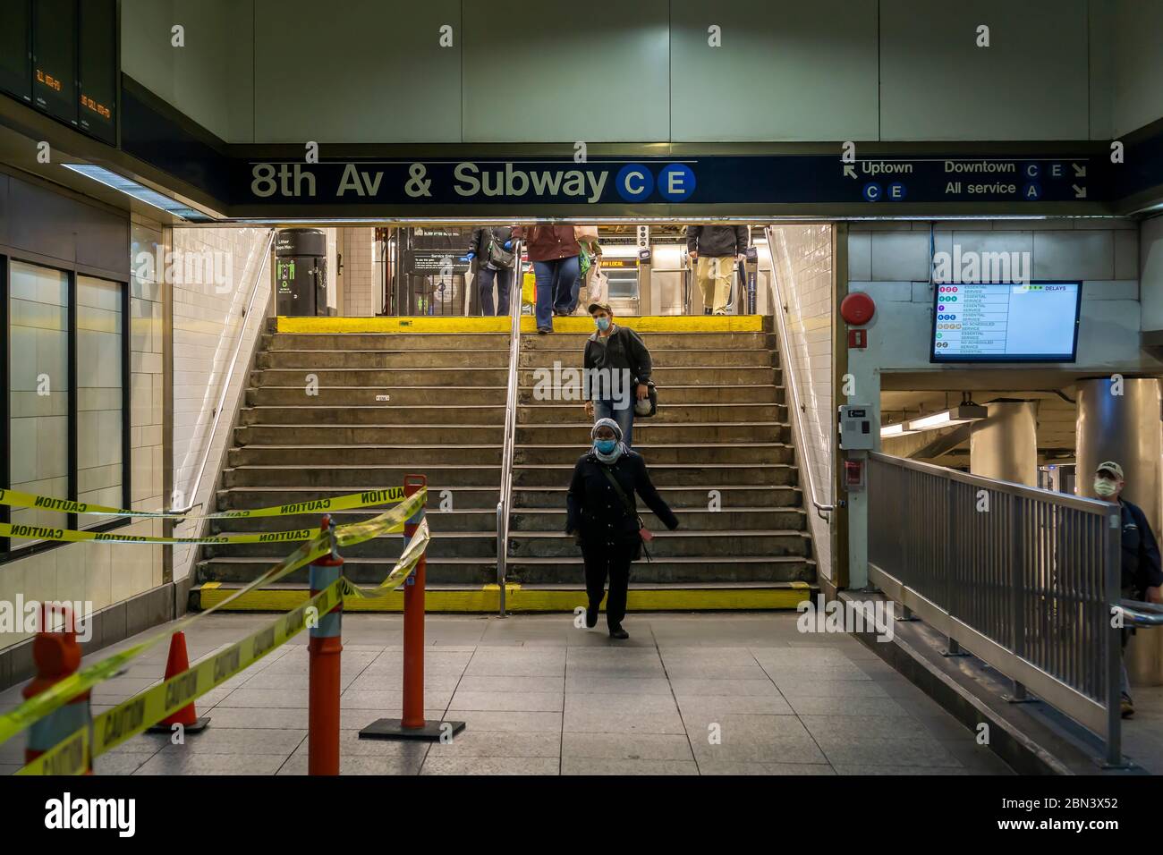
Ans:
POLYGON ((614 323, 608 302, 590 304, 590 315, 598 328, 585 343, 585 413, 591 419, 613 419, 621 428, 622 442, 634 439, 634 401, 650 396, 650 351, 629 327, 614 323))

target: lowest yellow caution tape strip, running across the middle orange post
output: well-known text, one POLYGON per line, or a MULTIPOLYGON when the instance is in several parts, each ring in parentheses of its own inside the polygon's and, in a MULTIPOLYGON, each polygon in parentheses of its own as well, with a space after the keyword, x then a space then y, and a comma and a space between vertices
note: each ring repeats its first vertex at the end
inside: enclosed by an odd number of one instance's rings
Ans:
MULTIPOLYGON (((344 528, 352 529, 356 526, 345 526, 344 528)), ((376 530, 369 533, 366 530, 368 523, 362 523, 359 528, 361 530, 358 532, 348 530, 345 533, 348 546, 374 537, 379 533, 376 530)), ((343 539, 343 535, 336 534, 336 541, 343 539)), ((164 683, 147 689, 112 710, 105 711, 93 719, 91 755, 88 753, 90 727, 86 726, 66 736, 50 750, 21 768, 16 774, 84 774, 90 768, 92 757, 98 757, 116 748, 126 740, 133 739, 162 719, 192 704, 202 694, 206 694, 206 692, 242 672, 298 635, 306 627, 307 613, 311 610, 314 608, 315 617, 319 618, 340 605, 344 594, 373 597, 399 587, 411 575, 421 556, 423 556, 429 539, 428 521, 421 520, 415 534, 412 535, 407 547, 405 547, 400 560, 392 568, 392 572, 377 587, 361 589, 341 577, 274 622, 251 633, 241 641, 236 641, 228 648, 220 650, 181 674, 170 677, 164 683)))

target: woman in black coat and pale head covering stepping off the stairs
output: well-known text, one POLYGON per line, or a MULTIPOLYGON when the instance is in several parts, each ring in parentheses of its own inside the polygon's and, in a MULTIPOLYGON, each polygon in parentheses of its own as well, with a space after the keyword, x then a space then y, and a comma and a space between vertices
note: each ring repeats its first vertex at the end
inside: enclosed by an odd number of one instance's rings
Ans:
POLYGON ((598 607, 609 577, 606 625, 609 637, 628 639, 622 629, 626 617, 626 589, 630 562, 642 555, 642 522, 637 492, 666 528, 678 528, 670 510, 647 472, 645 461, 622 442, 622 429, 613 419, 599 419, 590 433, 593 448, 573 468, 573 479, 565 499, 565 533, 573 535, 585 560, 585 587, 590 604, 585 625, 598 624, 598 607))

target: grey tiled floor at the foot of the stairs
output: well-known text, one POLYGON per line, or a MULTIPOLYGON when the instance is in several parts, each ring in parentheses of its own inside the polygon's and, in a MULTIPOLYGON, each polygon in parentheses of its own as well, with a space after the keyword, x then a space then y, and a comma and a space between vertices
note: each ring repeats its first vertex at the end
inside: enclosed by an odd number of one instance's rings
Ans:
MULTIPOLYGON (((468 724, 451 743, 429 746, 357 738, 374 719, 400 715, 402 624, 398 615, 345 615, 341 771, 1011 774, 859 642, 802 635, 797 617, 632 614, 630 640, 613 642, 602 624, 578 629, 572 615, 429 615, 427 714, 468 724)), ((188 633, 190 655, 270 620, 211 615, 188 633)), ((98 757, 98 774, 306 774, 306 640, 204 696, 204 733, 180 746, 136 736, 98 757)), ((163 644, 98 686, 94 710, 149 685, 165 656, 163 644)), ((8 690, 0 708, 19 700, 19 689, 8 690)), ((0 746, 0 772, 15 771, 22 748, 20 738, 0 746)))

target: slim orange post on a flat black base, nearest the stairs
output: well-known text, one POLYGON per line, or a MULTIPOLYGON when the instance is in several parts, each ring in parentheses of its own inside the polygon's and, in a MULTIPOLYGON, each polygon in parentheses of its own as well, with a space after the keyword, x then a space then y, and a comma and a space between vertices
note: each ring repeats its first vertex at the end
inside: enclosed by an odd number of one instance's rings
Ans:
MULTIPOLYGON (((404 476, 405 497, 428 485, 422 475, 404 476)), ((424 518, 421 507, 404 523, 407 543, 424 518)), ((359 739, 412 739, 437 741, 464 729, 463 721, 424 720, 424 571, 427 550, 404 583, 404 717, 379 719, 359 732, 359 739)))

